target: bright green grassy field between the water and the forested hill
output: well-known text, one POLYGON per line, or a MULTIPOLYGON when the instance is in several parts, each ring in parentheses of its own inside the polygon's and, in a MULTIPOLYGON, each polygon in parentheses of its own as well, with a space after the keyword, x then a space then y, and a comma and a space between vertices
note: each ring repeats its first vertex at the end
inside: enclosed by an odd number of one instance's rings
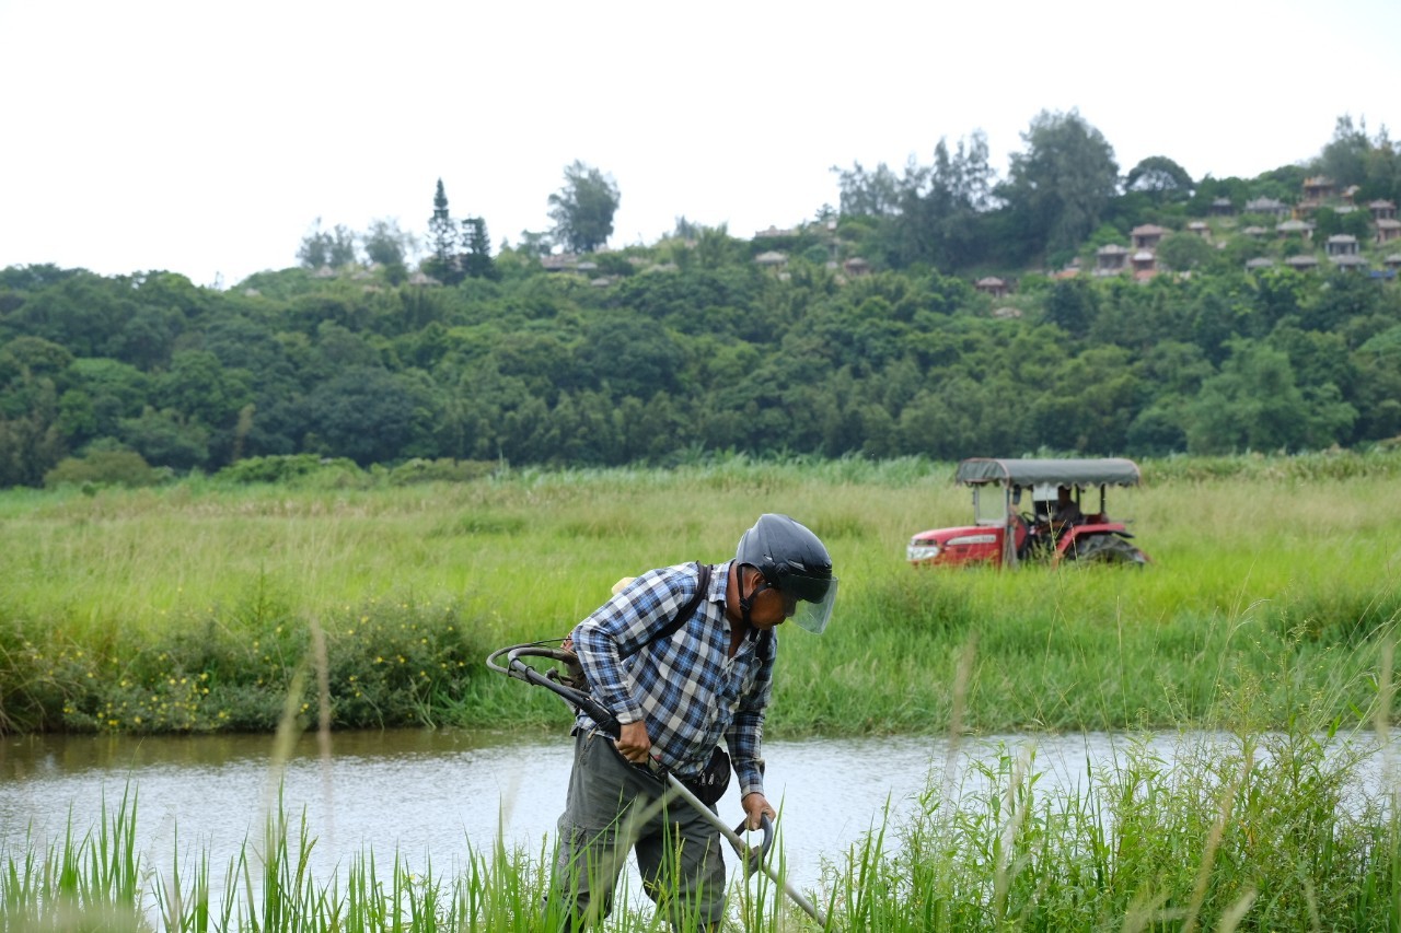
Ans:
POLYGON ((558 723, 485 654, 563 635, 619 576, 729 558, 761 511, 810 524, 842 579, 827 635, 783 633, 771 734, 1367 709, 1401 614, 1401 454, 1143 472, 1110 502, 1153 558, 1142 573, 912 570, 912 532, 971 513, 951 466, 922 461, 10 490, 0 731, 261 730, 289 703, 308 724, 558 723))

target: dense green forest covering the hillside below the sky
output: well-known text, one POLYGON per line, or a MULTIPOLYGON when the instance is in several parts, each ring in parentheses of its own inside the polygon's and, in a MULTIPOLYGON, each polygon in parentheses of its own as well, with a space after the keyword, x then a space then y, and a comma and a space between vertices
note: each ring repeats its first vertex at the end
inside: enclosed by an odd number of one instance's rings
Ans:
POLYGON ((553 242, 495 255, 439 184, 417 263, 380 224, 363 254, 318 230, 300 266, 227 290, 7 268, 0 486, 272 478, 290 455, 450 471, 1401 436, 1386 130, 1341 118, 1316 160, 1254 179, 1167 157, 1121 175, 1076 112, 1023 140, 1005 179, 979 134, 899 174, 834 170, 839 207, 751 240, 678 219, 602 249, 619 192, 574 163, 553 242))

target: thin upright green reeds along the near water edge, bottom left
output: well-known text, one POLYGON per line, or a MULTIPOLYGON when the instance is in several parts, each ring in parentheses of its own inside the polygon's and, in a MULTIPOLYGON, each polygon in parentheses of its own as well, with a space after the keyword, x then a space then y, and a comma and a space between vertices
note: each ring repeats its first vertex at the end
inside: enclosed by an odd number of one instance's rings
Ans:
MULTIPOLYGON (((223 890, 210 887, 210 856, 175 846, 171 869, 142 864, 134 839, 134 793, 104 814, 97 832, 70 832, 53 846, 32 839, 0 848, 0 932, 146 933, 534 933, 559 929, 563 908, 549 894, 551 852, 509 849, 500 839, 468 848, 465 864, 440 874, 432 860, 413 869, 399 853, 381 866, 373 849, 315 877, 305 817, 279 806, 261 843, 247 842, 227 866, 223 890), (182 870, 193 857, 193 871, 182 870)), ((665 929, 629 904, 626 883, 612 930, 665 929)))

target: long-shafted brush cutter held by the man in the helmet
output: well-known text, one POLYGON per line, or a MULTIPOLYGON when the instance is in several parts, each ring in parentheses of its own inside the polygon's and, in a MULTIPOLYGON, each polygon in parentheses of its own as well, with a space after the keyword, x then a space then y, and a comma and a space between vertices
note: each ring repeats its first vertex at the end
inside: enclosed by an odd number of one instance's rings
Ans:
MULTIPOLYGON (((576 710, 583 710, 584 713, 588 713, 590 719, 598 723, 600 730, 616 738, 619 731, 618 720, 608 709, 605 709, 601 703, 598 703, 598 700, 595 700, 584 691, 574 688, 572 682, 565 682, 563 678, 560 678, 559 671, 556 668, 551 668, 542 674, 541 671, 535 670, 534 667, 521 660, 523 657, 541 657, 565 664, 566 668, 577 663, 572 651, 566 651, 560 647, 552 647, 552 644, 555 643, 534 642, 528 644, 513 644, 509 647, 499 649, 496 651, 492 651, 486 657, 486 667, 496 671, 497 674, 504 674, 506 677, 511 677, 518 681, 525 681, 527 684, 532 684, 535 686, 544 686, 545 689, 551 691, 552 693, 563 699, 566 703, 573 706, 576 710), (500 663, 503 657, 506 660, 504 665, 500 663)), ((723 820, 720 820, 720 817, 715 814, 715 811, 710 810, 710 807, 702 803, 700 799, 696 797, 689 787, 681 783, 679 778, 677 778, 671 772, 663 770, 661 773, 657 773, 650 768, 644 768, 642 765, 633 763, 632 766, 636 768, 640 773, 647 775, 651 780, 664 786, 671 794, 679 797, 681 800, 685 800, 688 804, 691 804, 691 807, 695 808, 698 814, 700 814, 700 817, 706 822, 719 829, 720 835, 724 836, 731 846, 734 846, 736 853, 744 863, 745 877, 754 874, 755 871, 764 871, 764 874, 766 874, 775 884, 778 884, 783 890, 783 892, 789 897, 789 899, 793 901, 793 904, 801 908, 803 912, 807 913, 810 918, 813 918, 818 925, 827 927, 827 915, 824 915, 822 911, 820 911, 811 901, 808 901, 801 891, 793 887, 793 884, 787 878, 780 877, 779 873, 766 863, 765 857, 768 856, 769 849, 773 846, 773 822, 766 815, 762 818, 759 827, 764 832, 764 841, 762 843, 759 843, 758 848, 752 848, 744 841, 744 836, 740 835, 745 829, 747 821, 740 821, 740 825, 731 829, 724 824, 723 820)))

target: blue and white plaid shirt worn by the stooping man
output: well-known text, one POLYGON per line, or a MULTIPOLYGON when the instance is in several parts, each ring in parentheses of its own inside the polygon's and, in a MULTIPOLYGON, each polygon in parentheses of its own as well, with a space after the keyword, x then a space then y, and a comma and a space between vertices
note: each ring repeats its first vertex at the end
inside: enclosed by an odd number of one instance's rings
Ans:
MULTIPOLYGON (((729 657, 724 594, 733 563, 712 569, 709 593, 671 637, 646 644, 695 595, 700 580, 692 563, 643 573, 580 622, 573 637, 594 699, 619 723, 646 720, 653 754, 668 770, 695 778, 724 738, 743 796, 764 792, 759 745, 778 637, 751 630, 729 657)), ((595 727, 583 713, 577 724, 595 727)))

